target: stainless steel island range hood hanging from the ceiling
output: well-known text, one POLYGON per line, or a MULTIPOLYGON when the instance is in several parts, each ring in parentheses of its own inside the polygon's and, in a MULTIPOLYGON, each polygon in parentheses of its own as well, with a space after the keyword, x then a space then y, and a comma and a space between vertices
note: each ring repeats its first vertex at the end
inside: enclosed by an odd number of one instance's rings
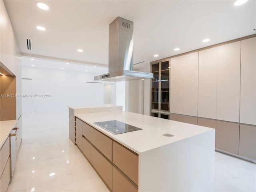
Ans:
POLYGON ((95 76, 100 81, 153 78, 152 73, 133 70, 133 22, 118 17, 109 25, 108 73, 95 76))

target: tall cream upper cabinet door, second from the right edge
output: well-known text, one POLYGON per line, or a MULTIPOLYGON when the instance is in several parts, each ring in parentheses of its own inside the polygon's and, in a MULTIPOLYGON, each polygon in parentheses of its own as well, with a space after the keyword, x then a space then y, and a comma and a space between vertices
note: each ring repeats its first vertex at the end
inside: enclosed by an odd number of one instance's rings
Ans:
POLYGON ((218 46, 216 118, 239 122, 241 41, 218 46))

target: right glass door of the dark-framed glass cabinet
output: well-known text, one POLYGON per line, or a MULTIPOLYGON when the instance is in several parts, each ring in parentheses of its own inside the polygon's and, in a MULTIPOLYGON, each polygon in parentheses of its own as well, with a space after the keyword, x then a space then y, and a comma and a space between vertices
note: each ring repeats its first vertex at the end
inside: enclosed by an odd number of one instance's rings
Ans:
POLYGON ((169 61, 161 62, 161 104, 160 110, 169 111, 169 79, 170 79, 169 61))

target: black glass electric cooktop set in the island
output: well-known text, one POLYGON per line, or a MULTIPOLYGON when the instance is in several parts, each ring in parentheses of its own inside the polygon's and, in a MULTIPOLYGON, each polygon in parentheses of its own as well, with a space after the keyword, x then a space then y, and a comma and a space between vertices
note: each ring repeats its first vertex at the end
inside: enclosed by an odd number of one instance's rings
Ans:
POLYGON ((132 131, 138 131, 142 130, 138 127, 134 127, 132 125, 128 125, 126 123, 112 120, 112 121, 102 121, 102 122, 95 122, 94 124, 106 129, 107 131, 113 133, 113 134, 121 134, 121 133, 127 133, 132 131))

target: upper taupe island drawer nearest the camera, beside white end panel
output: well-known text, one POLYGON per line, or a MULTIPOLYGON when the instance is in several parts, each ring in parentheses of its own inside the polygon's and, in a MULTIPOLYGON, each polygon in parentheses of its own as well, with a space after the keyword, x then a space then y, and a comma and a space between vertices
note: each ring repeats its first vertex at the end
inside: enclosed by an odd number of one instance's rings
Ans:
POLYGON ((113 141, 113 163, 138 186, 138 155, 113 141))

